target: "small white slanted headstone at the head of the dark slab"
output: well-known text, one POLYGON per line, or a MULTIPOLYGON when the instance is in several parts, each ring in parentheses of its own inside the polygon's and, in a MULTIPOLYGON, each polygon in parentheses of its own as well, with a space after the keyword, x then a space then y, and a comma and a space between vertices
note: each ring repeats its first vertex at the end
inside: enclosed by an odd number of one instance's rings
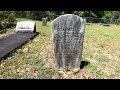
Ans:
POLYGON ((31 21, 17 22, 16 32, 36 32, 36 23, 31 21))

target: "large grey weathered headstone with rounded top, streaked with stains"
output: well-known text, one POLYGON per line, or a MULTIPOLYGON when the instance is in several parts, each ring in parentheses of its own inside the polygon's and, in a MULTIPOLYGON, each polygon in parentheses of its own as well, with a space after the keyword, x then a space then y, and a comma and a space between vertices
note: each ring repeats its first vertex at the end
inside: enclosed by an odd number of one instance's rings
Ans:
POLYGON ((52 22, 57 69, 80 69, 86 19, 65 14, 52 22))

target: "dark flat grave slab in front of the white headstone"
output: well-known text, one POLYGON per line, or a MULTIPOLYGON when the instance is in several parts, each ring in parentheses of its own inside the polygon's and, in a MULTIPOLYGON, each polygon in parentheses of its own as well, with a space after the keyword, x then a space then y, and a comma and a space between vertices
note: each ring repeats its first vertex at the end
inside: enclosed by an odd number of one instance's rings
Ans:
POLYGON ((0 38, 0 61, 14 49, 18 48, 38 33, 13 33, 0 38))

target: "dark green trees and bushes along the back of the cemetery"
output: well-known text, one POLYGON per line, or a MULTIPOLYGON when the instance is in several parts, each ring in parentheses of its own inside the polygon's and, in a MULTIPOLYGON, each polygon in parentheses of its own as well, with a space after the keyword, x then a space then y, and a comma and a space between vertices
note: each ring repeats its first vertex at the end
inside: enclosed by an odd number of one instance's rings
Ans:
POLYGON ((109 23, 120 21, 120 11, 0 11, 0 30, 15 25, 16 18, 28 18, 33 20, 42 20, 47 17, 48 20, 53 20, 59 15, 75 14, 85 17, 90 20, 89 22, 101 22, 102 20, 109 19, 109 23), (96 19, 98 19, 96 21, 96 19))

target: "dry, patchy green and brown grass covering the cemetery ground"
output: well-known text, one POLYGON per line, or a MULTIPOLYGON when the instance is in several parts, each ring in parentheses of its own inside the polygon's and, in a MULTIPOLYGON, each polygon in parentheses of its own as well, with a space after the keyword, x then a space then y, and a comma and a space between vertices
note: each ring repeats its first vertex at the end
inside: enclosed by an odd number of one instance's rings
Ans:
MULTIPOLYGON (((18 18, 18 21, 29 20, 18 18)), ((42 26, 36 22, 39 35, 13 51, 0 62, 2 79, 119 79, 120 78, 120 26, 86 25, 82 67, 79 72, 58 72, 54 69, 54 50, 51 22, 42 26), (83 65, 83 62, 85 63, 83 65)), ((7 29, 1 35, 15 32, 7 29)))

